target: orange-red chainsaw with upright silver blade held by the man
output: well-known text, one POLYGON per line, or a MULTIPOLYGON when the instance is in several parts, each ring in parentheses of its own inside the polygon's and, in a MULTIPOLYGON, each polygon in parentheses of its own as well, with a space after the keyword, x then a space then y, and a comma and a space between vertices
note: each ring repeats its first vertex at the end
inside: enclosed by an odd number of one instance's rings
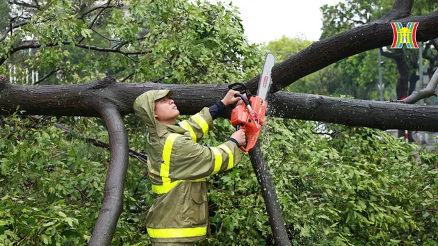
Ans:
POLYGON ((228 86, 229 89, 240 92, 234 95, 241 97, 241 101, 232 110, 231 123, 237 130, 245 129, 246 146, 239 147, 242 151, 250 151, 259 139, 268 106, 266 96, 270 88, 270 72, 274 65, 275 56, 271 53, 266 54, 256 96, 251 95, 250 90, 243 83, 233 83, 228 86))

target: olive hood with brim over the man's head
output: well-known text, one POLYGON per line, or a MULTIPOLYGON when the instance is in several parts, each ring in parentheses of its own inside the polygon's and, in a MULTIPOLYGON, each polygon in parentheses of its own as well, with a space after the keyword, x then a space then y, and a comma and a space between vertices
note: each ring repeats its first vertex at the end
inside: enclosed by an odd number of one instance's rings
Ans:
POLYGON ((155 101, 173 95, 172 90, 149 90, 136 98, 133 108, 134 113, 140 117, 147 126, 149 133, 159 133, 165 126, 155 119, 155 101))

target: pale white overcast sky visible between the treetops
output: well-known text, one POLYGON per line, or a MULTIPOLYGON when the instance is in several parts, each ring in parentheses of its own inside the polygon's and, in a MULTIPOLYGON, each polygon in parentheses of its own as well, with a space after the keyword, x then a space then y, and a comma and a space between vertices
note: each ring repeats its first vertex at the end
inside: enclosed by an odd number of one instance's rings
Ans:
MULTIPOLYGON (((216 3, 217 0, 209 0, 216 3)), ((317 41, 321 36, 324 4, 335 5, 341 0, 220 0, 238 7, 245 35, 250 43, 273 41, 286 35, 298 35, 317 41)))

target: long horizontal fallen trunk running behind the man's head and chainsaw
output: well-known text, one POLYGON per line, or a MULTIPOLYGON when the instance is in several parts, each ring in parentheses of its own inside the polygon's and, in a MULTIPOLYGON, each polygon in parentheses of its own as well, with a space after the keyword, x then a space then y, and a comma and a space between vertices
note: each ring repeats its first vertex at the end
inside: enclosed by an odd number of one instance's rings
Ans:
MULTIPOLYGON (((26 110, 26 115, 77 115, 101 117, 99 105, 108 102, 122 115, 133 113, 133 101, 147 90, 168 88, 181 115, 193 115, 213 105, 227 93, 227 84, 172 85, 162 83, 115 83, 108 76, 81 85, 12 85, 0 79, 0 108, 6 115, 26 110), (3 88, 3 89, 2 89, 3 88)), ((438 131, 438 106, 396 104, 383 101, 339 99, 290 92, 270 96, 273 117, 332 122, 375 129, 438 131), (428 124, 424 124, 424 122, 428 124)))

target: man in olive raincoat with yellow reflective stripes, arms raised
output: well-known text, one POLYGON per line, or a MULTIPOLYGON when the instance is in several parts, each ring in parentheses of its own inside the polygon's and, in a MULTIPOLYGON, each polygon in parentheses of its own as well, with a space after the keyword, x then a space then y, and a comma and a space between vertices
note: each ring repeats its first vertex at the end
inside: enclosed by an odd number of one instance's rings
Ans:
POLYGON ((213 129, 213 120, 234 104, 238 93, 227 95, 210 108, 175 124, 179 110, 172 90, 151 90, 140 95, 133 108, 147 126, 147 169, 154 204, 147 213, 152 245, 194 245, 206 238, 209 213, 206 177, 225 172, 241 161, 239 146, 245 131, 232 134, 218 147, 197 143, 213 129))

